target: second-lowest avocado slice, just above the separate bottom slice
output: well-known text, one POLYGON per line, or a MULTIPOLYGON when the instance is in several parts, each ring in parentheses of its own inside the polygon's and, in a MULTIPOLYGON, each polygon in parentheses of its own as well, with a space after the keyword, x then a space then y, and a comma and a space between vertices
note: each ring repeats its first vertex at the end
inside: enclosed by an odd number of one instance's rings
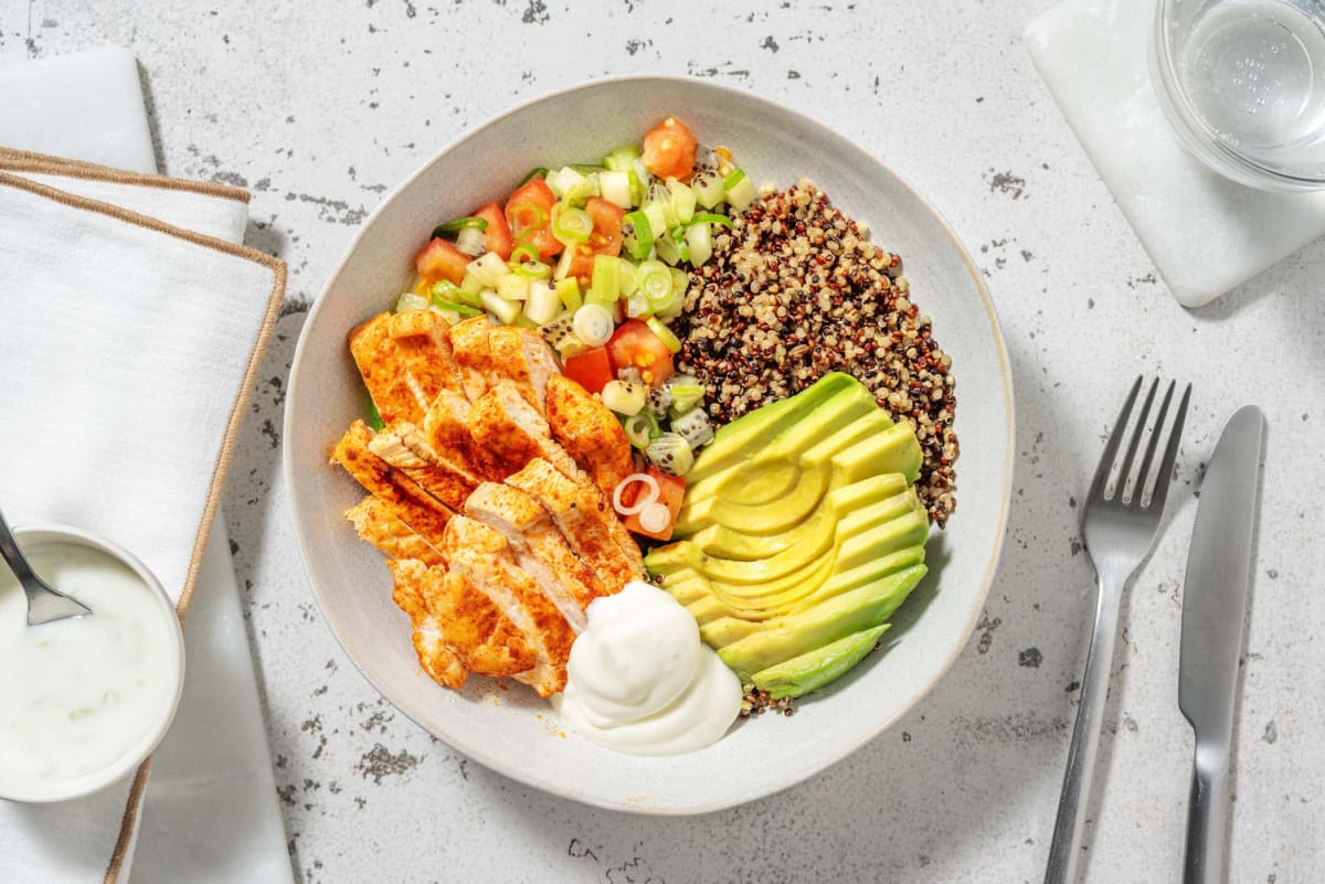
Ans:
POLYGON ((925 565, 908 568, 880 581, 835 596, 814 607, 765 623, 718 651, 718 656, 742 682, 770 666, 790 660, 816 647, 878 626, 897 610, 920 578, 925 565))

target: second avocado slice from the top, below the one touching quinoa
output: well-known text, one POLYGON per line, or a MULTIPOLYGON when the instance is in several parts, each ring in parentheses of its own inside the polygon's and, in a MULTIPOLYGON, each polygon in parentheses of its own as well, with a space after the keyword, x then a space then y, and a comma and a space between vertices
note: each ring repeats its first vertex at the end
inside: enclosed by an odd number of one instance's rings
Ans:
POLYGON ((880 417, 892 425, 892 418, 878 408, 873 394, 856 384, 825 400, 776 438, 763 442, 746 461, 702 482, 688 483, 686 494, 694 502, 712 496, 746 506, 776 502, 795 486, 799 468, 818 466, 860 439, 863 421, 868 420, 880 430, 888 429, 878 426, 880 417), (822 450, 824 457, 807 457, 811 450, 829 442, 832 445, 822 450))

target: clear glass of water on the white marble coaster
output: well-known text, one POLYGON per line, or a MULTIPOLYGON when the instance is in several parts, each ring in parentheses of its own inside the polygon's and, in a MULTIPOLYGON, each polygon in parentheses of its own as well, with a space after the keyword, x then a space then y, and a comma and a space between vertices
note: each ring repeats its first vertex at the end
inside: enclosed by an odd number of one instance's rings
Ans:
POLYGON ((1150 49, 1159 106, 1206 165, 1325 188, 1325 0, 1158 0, 1150 49))

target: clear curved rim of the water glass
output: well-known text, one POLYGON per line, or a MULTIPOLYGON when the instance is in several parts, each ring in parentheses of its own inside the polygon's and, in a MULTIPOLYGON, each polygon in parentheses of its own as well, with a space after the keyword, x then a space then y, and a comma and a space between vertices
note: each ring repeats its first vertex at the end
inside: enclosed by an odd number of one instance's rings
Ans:
POLYGON ((1150 29, 1150 71, 1155 97, 1174 134, 1212 171, 1247 187, 1275 191, 1318 191, 1325 188, 1325 169, 1317 176, 1293 175, 1259 163, 1230 147, 1206 123, 1178 78, 1169 44, 1169 17, 1182 0, 1157 0, 1150 29))

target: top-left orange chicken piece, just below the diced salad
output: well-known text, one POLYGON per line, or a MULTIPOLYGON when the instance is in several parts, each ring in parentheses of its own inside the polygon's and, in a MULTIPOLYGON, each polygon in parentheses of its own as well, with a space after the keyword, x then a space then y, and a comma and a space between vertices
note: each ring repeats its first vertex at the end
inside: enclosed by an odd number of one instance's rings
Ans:
POLYGON ((439 392, 462 389, 447 320, 431 310, 374 316, 350 332, 350 353, 387 426, 423 423, 439 392))

